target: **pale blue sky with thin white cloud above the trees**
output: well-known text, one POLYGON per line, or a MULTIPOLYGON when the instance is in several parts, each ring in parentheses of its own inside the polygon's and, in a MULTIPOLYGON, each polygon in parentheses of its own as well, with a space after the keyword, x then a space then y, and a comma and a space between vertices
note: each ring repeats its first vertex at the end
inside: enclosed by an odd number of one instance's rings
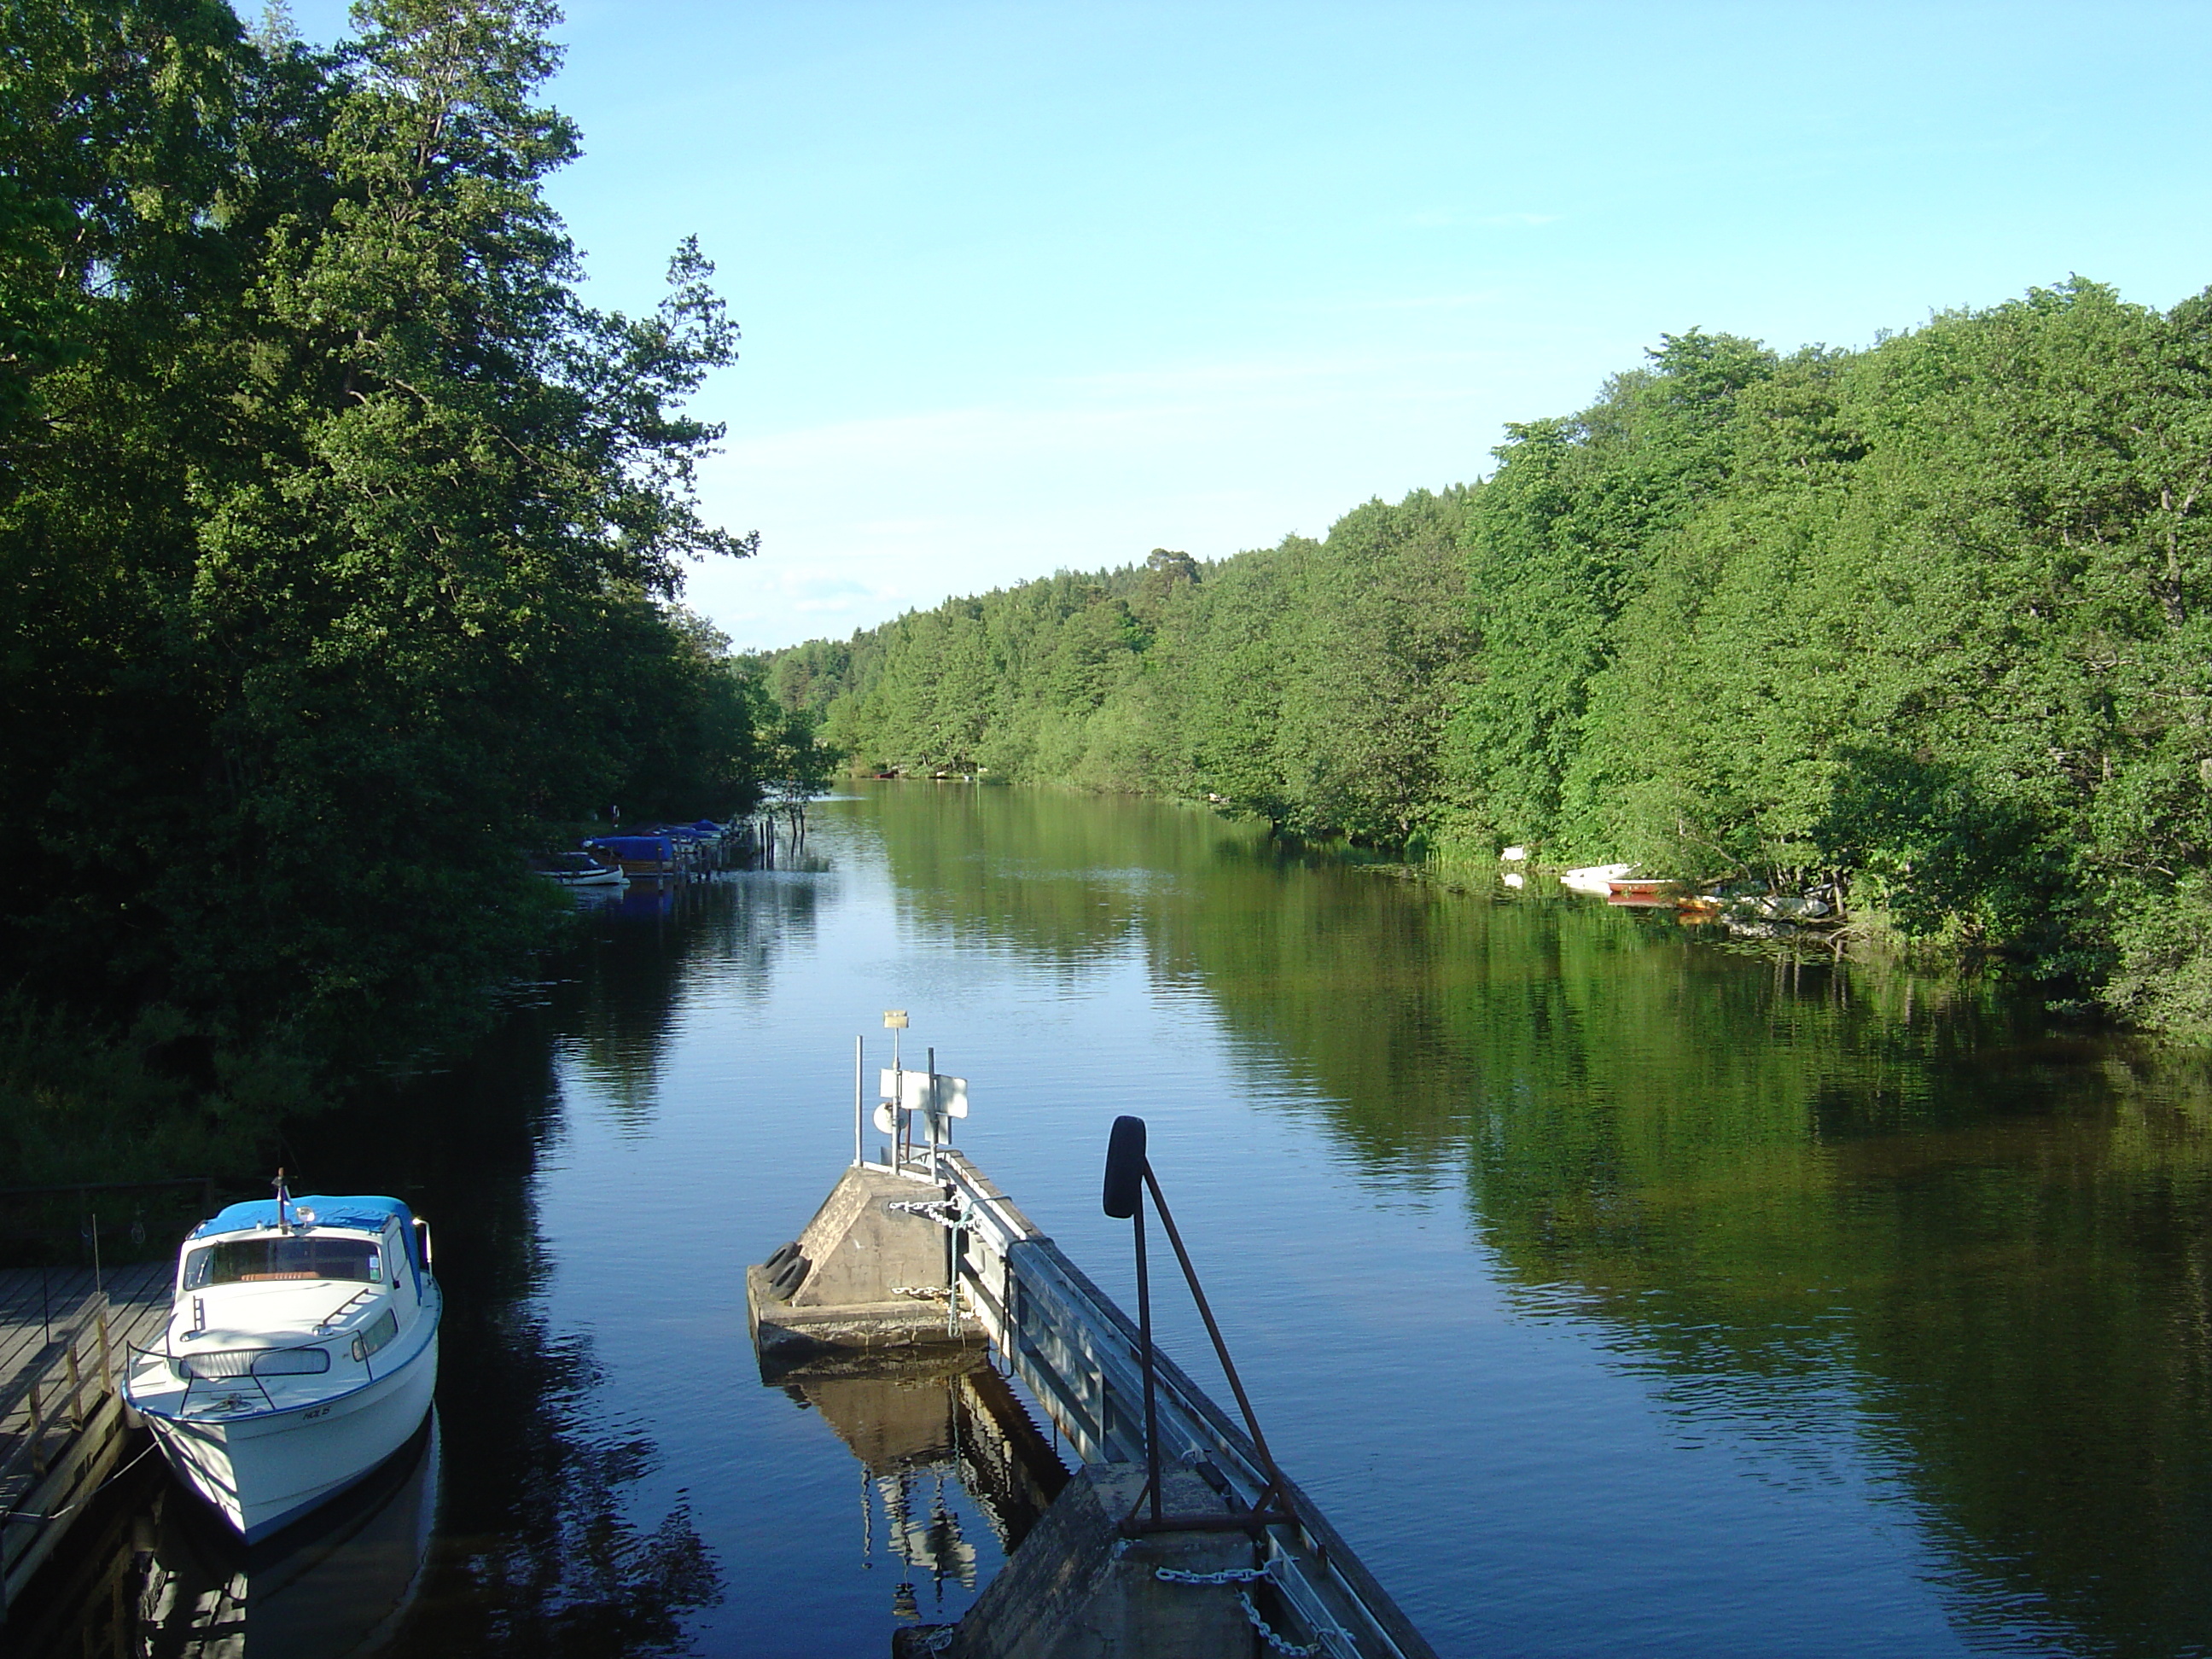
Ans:
POLYGON ((697 232, 743 330, 701 500, 761 551, 686 591, 739 648, 1325 535, 1688 327, 2212 285, 2205 0, 571 0, 557 38, 588 299, 650 307, 697 232))

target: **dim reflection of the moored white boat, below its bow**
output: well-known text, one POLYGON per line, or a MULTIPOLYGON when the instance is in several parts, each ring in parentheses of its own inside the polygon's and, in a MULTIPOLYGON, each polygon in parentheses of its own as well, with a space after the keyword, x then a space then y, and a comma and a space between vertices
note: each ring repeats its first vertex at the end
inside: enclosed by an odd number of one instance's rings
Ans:
POLYGON ((365 1659, 422 1584, 438 1517, 438 1413, 354 1491, 263 1544, 161 1493, 139 1584, 146 1659, 365 1659))

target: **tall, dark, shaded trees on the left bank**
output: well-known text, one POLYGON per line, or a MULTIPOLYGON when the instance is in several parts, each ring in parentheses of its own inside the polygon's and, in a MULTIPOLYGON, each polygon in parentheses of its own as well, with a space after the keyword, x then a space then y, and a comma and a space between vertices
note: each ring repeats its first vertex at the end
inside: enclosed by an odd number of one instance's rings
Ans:
POLYGON ((792 721, 679 604, 743 555, 684 243, 593 310, 542 0, 0 29, 0 1186, 259 1170, 471 1031, 615 805, 745 810, 792 721), (210 1168, 212 1166, 212 1168, 210 1168))

